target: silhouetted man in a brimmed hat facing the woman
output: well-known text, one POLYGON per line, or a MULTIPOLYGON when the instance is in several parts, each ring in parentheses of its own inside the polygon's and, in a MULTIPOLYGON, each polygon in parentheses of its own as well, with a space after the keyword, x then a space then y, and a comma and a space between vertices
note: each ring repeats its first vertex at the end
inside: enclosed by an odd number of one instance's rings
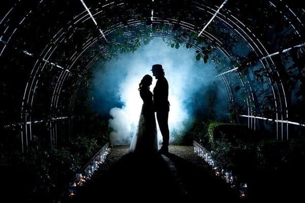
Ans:
POLYGON ((170 105, 168 101, 168 82, 164 77, 165 73, 162 65, 153 65, 151 71, 153 72, 153 76, 157 79, 153 96, 157 120, 163 138, 162 147, 159 152, 166 154, 168 153, 169 145, 168 112, 170 105))

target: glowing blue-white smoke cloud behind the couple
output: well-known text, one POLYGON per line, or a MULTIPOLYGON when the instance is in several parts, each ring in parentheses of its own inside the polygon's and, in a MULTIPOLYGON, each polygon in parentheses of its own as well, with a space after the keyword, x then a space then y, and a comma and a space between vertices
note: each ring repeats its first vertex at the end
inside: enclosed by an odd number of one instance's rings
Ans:
MULTIPOLYGON (((110 134, 112 145, 131 142, 143 104, 138 84, 145 74, 153 76, 150 71, 153 64, 162 64, 169 83, 170 142, 174 133, 184 129, 184 122, 199 108, 204 87, 215 76, 213 65, 197 61, 195 56, 194 49, 174 49, 155 38, 134 53, 119 54, 117 60, 96 63, 93 110, 112 117, 109 120, 114 129, 110 134), (101 66, 104 68, 99 69, 101 66)), ((151 91, 156 84, 153 78, 151 91)), ((162 142, 159 128, 158 138, 162 142)))

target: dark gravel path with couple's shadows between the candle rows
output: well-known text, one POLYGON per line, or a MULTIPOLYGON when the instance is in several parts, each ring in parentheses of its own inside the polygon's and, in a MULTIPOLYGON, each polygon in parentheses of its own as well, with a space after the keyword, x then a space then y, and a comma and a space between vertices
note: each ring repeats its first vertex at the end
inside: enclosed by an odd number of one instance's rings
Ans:
POLYGON ((169 154, 129 153, 129 146, 111 146, 93 178, 69 202, 110 200, 210 200, 239 202, 237 192, 194 153, 193 146, 169 146, 169 154), (145 199, 143 199, 145 198, 145 199))

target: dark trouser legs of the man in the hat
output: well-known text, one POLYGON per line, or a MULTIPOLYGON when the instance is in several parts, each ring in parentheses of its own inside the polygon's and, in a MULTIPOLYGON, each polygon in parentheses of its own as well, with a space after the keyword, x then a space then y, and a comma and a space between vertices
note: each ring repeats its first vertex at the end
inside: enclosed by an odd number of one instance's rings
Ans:
POLYGON ((163 138, 162 146, 168 147, 169 145, 168 111, 157 112, 157 120, 163 138))

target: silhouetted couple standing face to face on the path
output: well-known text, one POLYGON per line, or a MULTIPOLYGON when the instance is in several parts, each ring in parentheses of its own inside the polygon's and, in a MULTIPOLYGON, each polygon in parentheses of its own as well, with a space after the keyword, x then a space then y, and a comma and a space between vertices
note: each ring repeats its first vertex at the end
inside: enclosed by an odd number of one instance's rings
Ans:
POLYGON ((130 152, 156 152, 159 149, 157 136, 157 124, 155 112, 162 134, 163 143, 159 150, 161 154, 168 153, 169 129, 168 129, 168 82, 162 65, 153 65, 151 71, 157 79, 154 94, 149 90, 153 82, 150 75, 145 75, 140 84, 139 91, 143 100, 138 128, 130 144, 130 152))

